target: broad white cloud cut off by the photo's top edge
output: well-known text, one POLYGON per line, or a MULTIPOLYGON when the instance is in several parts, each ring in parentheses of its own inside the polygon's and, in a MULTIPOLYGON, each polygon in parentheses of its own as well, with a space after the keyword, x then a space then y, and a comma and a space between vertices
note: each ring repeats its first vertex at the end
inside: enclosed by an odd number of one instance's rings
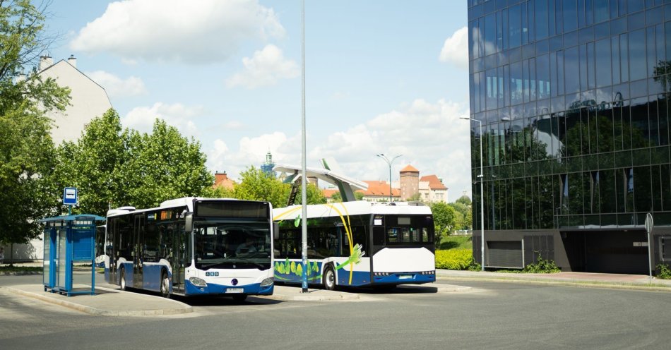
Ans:
POLYGON ((224 61, 245 40, 284 35, 277 14, 258 0, 126 0, 109 4, 70 48, 116 54, 126 62, 203 64, 224 61))

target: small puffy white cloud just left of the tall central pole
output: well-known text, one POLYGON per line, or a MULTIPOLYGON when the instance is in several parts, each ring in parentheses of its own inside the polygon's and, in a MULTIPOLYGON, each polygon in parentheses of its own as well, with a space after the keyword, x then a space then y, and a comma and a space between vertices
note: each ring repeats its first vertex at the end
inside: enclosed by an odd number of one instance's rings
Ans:
POLYGON ((275 45, 266 45, 254 52, 251 58, 242 59, 244 69, 226 80, 227 87, 243 86, 248 89, 275 85, 280 79, 296 78, 300 75, 298 64, 285 59, 282 50, 275 45))

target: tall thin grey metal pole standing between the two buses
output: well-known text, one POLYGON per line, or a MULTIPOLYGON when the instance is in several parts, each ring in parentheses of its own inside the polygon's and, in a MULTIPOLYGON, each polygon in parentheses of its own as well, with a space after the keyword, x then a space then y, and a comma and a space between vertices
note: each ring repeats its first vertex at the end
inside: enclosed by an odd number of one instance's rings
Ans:
POLYGON ((307 178, 305 142, 305 0, 301 1, 301 200, 302 200, 302 293, 307 293, 307 178))

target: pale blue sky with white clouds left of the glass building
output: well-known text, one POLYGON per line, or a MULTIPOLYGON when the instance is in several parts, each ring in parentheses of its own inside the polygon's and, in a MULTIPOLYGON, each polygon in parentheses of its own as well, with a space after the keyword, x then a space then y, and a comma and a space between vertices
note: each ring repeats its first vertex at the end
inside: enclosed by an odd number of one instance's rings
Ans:
MULTIPOLYGON (((305 1, 307 167, 392 181, 410 164, 470 197, 467 1, 305 1)), ((105 87, 125 127, 156 118, 237 179, 301 163, 301 1, 52 0, 54 61, 105 87)))

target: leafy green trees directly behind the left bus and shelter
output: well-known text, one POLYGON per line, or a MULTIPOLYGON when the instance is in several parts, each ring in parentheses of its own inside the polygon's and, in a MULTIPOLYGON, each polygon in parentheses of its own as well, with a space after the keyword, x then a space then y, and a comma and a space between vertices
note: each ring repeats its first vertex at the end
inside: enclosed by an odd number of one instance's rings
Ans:
POLYGON ((121 126, 109 109, 93 119, 77 143, 59 147, 54 183, 79 189, 74 212, 105 215, 109 207, 155 207, 163 200, 202 195, 213 176, 195 140, 157 119, 153 132, 121 126))

